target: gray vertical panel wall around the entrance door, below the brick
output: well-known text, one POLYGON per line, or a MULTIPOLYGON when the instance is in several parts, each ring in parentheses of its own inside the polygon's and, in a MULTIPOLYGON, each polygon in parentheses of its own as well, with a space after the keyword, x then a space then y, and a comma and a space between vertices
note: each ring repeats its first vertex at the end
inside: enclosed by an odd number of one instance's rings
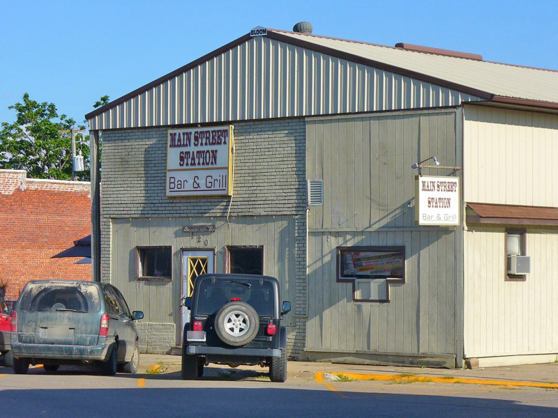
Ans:
MULTIPOLYGON (((153 217, 112 219, 111 283, 120 289, 130 309, 144 311, 146 322, 181 323, 181 248, 216 249, 216 272, 225 270, 225 245, 263 245, 264 274, 277 277, 283 300, 296 309, 295 219, 292 216, 233 217, 153 217), (189 224, 216 224, 214 233, 188 234, 189 224), (197 235, 208 240, 200 247, 197 235), (172 245, 172 281, 135 280, 136 246, 172 245)), ((286 325, 294 318, 285 317, 286 325)), ((176 327, 180 332, 180 327, 176 327)), ((179 335, 177 334, 177 338, 179 335)), ((177 341, 179 341, 177 339, 177 341)))

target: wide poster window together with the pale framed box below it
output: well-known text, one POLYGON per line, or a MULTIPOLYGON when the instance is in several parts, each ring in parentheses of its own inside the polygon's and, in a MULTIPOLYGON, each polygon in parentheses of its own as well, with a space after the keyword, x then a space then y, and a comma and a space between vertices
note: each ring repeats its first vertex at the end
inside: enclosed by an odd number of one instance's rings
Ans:
POLYGON ((389 302, 389 285, 405 283, 405 247, 338 247, 337 265, 356 302, 389 302))

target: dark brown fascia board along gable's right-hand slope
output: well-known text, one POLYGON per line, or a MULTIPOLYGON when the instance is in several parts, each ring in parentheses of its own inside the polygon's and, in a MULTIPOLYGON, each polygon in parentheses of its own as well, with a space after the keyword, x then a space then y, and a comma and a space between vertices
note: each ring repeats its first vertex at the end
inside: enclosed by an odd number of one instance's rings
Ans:
POLYGON ((267 31, 267 37, 278 40, 280 42, 285 42, 296 47, 302 47, 306 49, 310 49, 315 52, 320 52, 322 54, 335 56, 340 59, 345 59, 347 61, 352 61, 354 63, 359 63, 363 65, 368 65, 369 67, 378 68, 379 70, 386 70, 389 72, 394 72, 395 74, 403 75, 406 77, 411 77, 414 79, 421 80, 423 82, 427 82, 430 84, 436 84, 438 86, 451 88, 453 90, 461 91, 462 93, 467 93, 470 95, 476 95, 479 98, 490 100, 494 96, 492 93, 488 93, 488 91, 478 90, 477 88, 472 88, 468 86, 462 86, 461 84, 448 82, 444 79, 439 79, 437 77, 430 77, 429 75, 422 74, 421 72, 415 72, 412 70, 407 70, 405 68, 396 67, 395 65, 390 65, 386 63, 382 63, 381 61, 375 61, 372 59, 366 59, 362 56, 349 54, 348 52, 342 52, 338 49, 333 49, 330 47, 324 47, 322 45, 316 45, 312 42, 308 42, 303 39, 292 38, 291 36, 283 35, 282 33, 275 32, 271 29, 267 31))

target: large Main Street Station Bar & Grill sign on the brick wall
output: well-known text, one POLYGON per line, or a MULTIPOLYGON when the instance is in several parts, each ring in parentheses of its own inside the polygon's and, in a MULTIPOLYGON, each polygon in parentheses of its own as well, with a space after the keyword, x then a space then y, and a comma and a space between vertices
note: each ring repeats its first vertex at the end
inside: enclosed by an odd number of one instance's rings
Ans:
POLYGON ((167 196, 232 194, 232 125, 169 129, 167 196))

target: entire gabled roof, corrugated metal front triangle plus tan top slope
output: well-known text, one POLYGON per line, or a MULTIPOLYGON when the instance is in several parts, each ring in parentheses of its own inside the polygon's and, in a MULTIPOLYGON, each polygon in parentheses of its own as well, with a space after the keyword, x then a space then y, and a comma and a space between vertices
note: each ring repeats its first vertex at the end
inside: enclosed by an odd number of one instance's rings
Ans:
POLYGON ((85 117, 90 129, 112 129, 453 106, 479 100, 558 107, 557 71, 480 61, 473 54, 468 56, 473 59, 268 29, 266 36, 241 36, 85 117), (246 68, 236 68, 233 64, 246 68), (273 68, 264 68, 273 65, 275 73, 273 68), (306 75, 307 67, 315 74, 306 75), (232 74, 234 70, 236 75, 232 74), (259 77, 256 71, 263 70, 268 72, 259 77), (301 72, 306 79, 301 79, 301 72), (227 78, 232 77, 239 79, 236 94, 246 98, 232 97, 232 82, 225 86, 227 78), (247 82, 250 77, 259 80, 247 82), (266 81, 264 77, 283 77, 285 81, 266 81), (188 82, 192 84, 189 87, 188 82), (194 86, 196 82, 206 85, 194 86), (322 86, 315 86, 318 83, 322 86), (204 89, 213 91, 204 93, 202 98, 186 97, 187 93, 202 95, 204 89), (351 97, 333 97, 342 93, 351 97), (270 94, 276 97, 266 102, 264 96, 270 94), (223 98, 222 95, 231 96, 225 98, 231 103, 219 104, 223 108, 216 109, 211 100, 223 98), (252 98, 256 100, 250 102, 252 98), (272 103, 287 100, 291 103, 272 103), (386 100, 390 102, 384 103, 386 100), (273 106, 285 109, 271 109, 273 106), (178 107, 190 109, 183 109, 179 115, 178 107), (232 107, 250 109, 232 111, 232 107), (257 107, 267 109, 262 111, 257 107))

